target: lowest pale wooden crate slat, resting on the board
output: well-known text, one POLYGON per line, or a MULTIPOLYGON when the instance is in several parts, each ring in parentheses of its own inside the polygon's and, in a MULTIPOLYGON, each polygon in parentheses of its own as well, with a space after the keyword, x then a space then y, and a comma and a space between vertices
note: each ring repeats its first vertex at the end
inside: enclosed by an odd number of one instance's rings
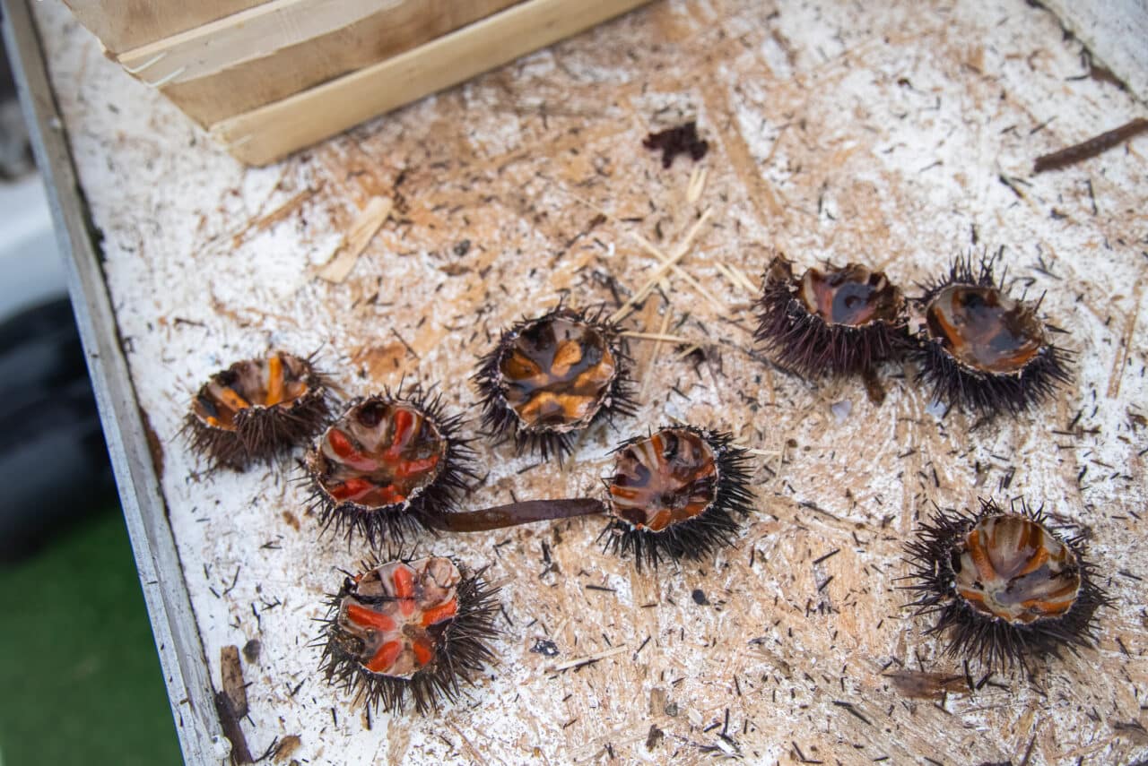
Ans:
POLYGON ((240 162, 265 165, 646 2, 529 0, 373 67, 217 123, 211 136, 240 162))

